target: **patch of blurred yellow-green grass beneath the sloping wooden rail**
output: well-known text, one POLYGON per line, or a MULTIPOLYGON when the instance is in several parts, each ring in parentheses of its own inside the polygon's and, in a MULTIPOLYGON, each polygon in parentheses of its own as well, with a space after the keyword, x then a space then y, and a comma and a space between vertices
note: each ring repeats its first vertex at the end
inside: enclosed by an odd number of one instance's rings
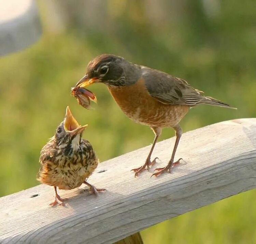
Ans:
MULTIPOLYGON (((150 243, 256 243, 255 190, 247 191, 141 231, 150 243)), ((157 211, 157 210, 152 210, 157 211)))

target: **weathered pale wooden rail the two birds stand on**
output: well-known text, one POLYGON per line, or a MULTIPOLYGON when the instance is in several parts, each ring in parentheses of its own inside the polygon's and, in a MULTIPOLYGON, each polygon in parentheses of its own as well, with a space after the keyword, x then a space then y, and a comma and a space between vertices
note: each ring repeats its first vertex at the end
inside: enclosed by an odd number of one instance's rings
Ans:
MULTIPOLYGON (((157 143, 164 166, 174 138, 157 143)), ((150 147, 105 161, 89 182, 108 191, 59 191, 66 207, 49 207, 53 187, 39 185, 0 198, 1 243, 113 243, 168 218, 256 187, 256 119, 224 121, 183 134, 172 174, 133 177, 150 147), (102 173, 97 173, 106 170, 102 173), (32 195, 39 194, 31 198, 32 195)), ((82 187, 83 189, 85 186, 82 187)))

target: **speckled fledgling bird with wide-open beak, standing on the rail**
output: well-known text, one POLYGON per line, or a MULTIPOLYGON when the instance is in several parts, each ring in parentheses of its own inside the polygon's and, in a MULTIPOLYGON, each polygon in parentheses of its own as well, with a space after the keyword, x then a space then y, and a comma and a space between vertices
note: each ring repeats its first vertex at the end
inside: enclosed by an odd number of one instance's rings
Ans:
POLYGON ((57 193, 59 189, 71 190, 86 184, 93 194, 105 189, 97 189, 87 182, 87 178, 98 166, 98 158, 91 144, 82 139, 82 133, 87 125, 80 126, 67 106, 66 116, 57 127, 54 137, 42 148, 39 162, 41 168, 37 180, 54 186, 56 204, 64 206, 57 193))

